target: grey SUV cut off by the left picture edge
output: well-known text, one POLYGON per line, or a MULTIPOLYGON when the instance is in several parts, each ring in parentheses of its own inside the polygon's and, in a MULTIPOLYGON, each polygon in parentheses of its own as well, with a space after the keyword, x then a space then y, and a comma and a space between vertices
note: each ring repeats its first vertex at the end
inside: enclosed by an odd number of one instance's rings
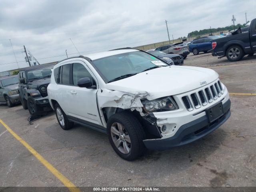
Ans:
POLYGON ((20 103, 18 84, 17 75, 0 77, 0 101, 6 102, 8 107, 20 103))

